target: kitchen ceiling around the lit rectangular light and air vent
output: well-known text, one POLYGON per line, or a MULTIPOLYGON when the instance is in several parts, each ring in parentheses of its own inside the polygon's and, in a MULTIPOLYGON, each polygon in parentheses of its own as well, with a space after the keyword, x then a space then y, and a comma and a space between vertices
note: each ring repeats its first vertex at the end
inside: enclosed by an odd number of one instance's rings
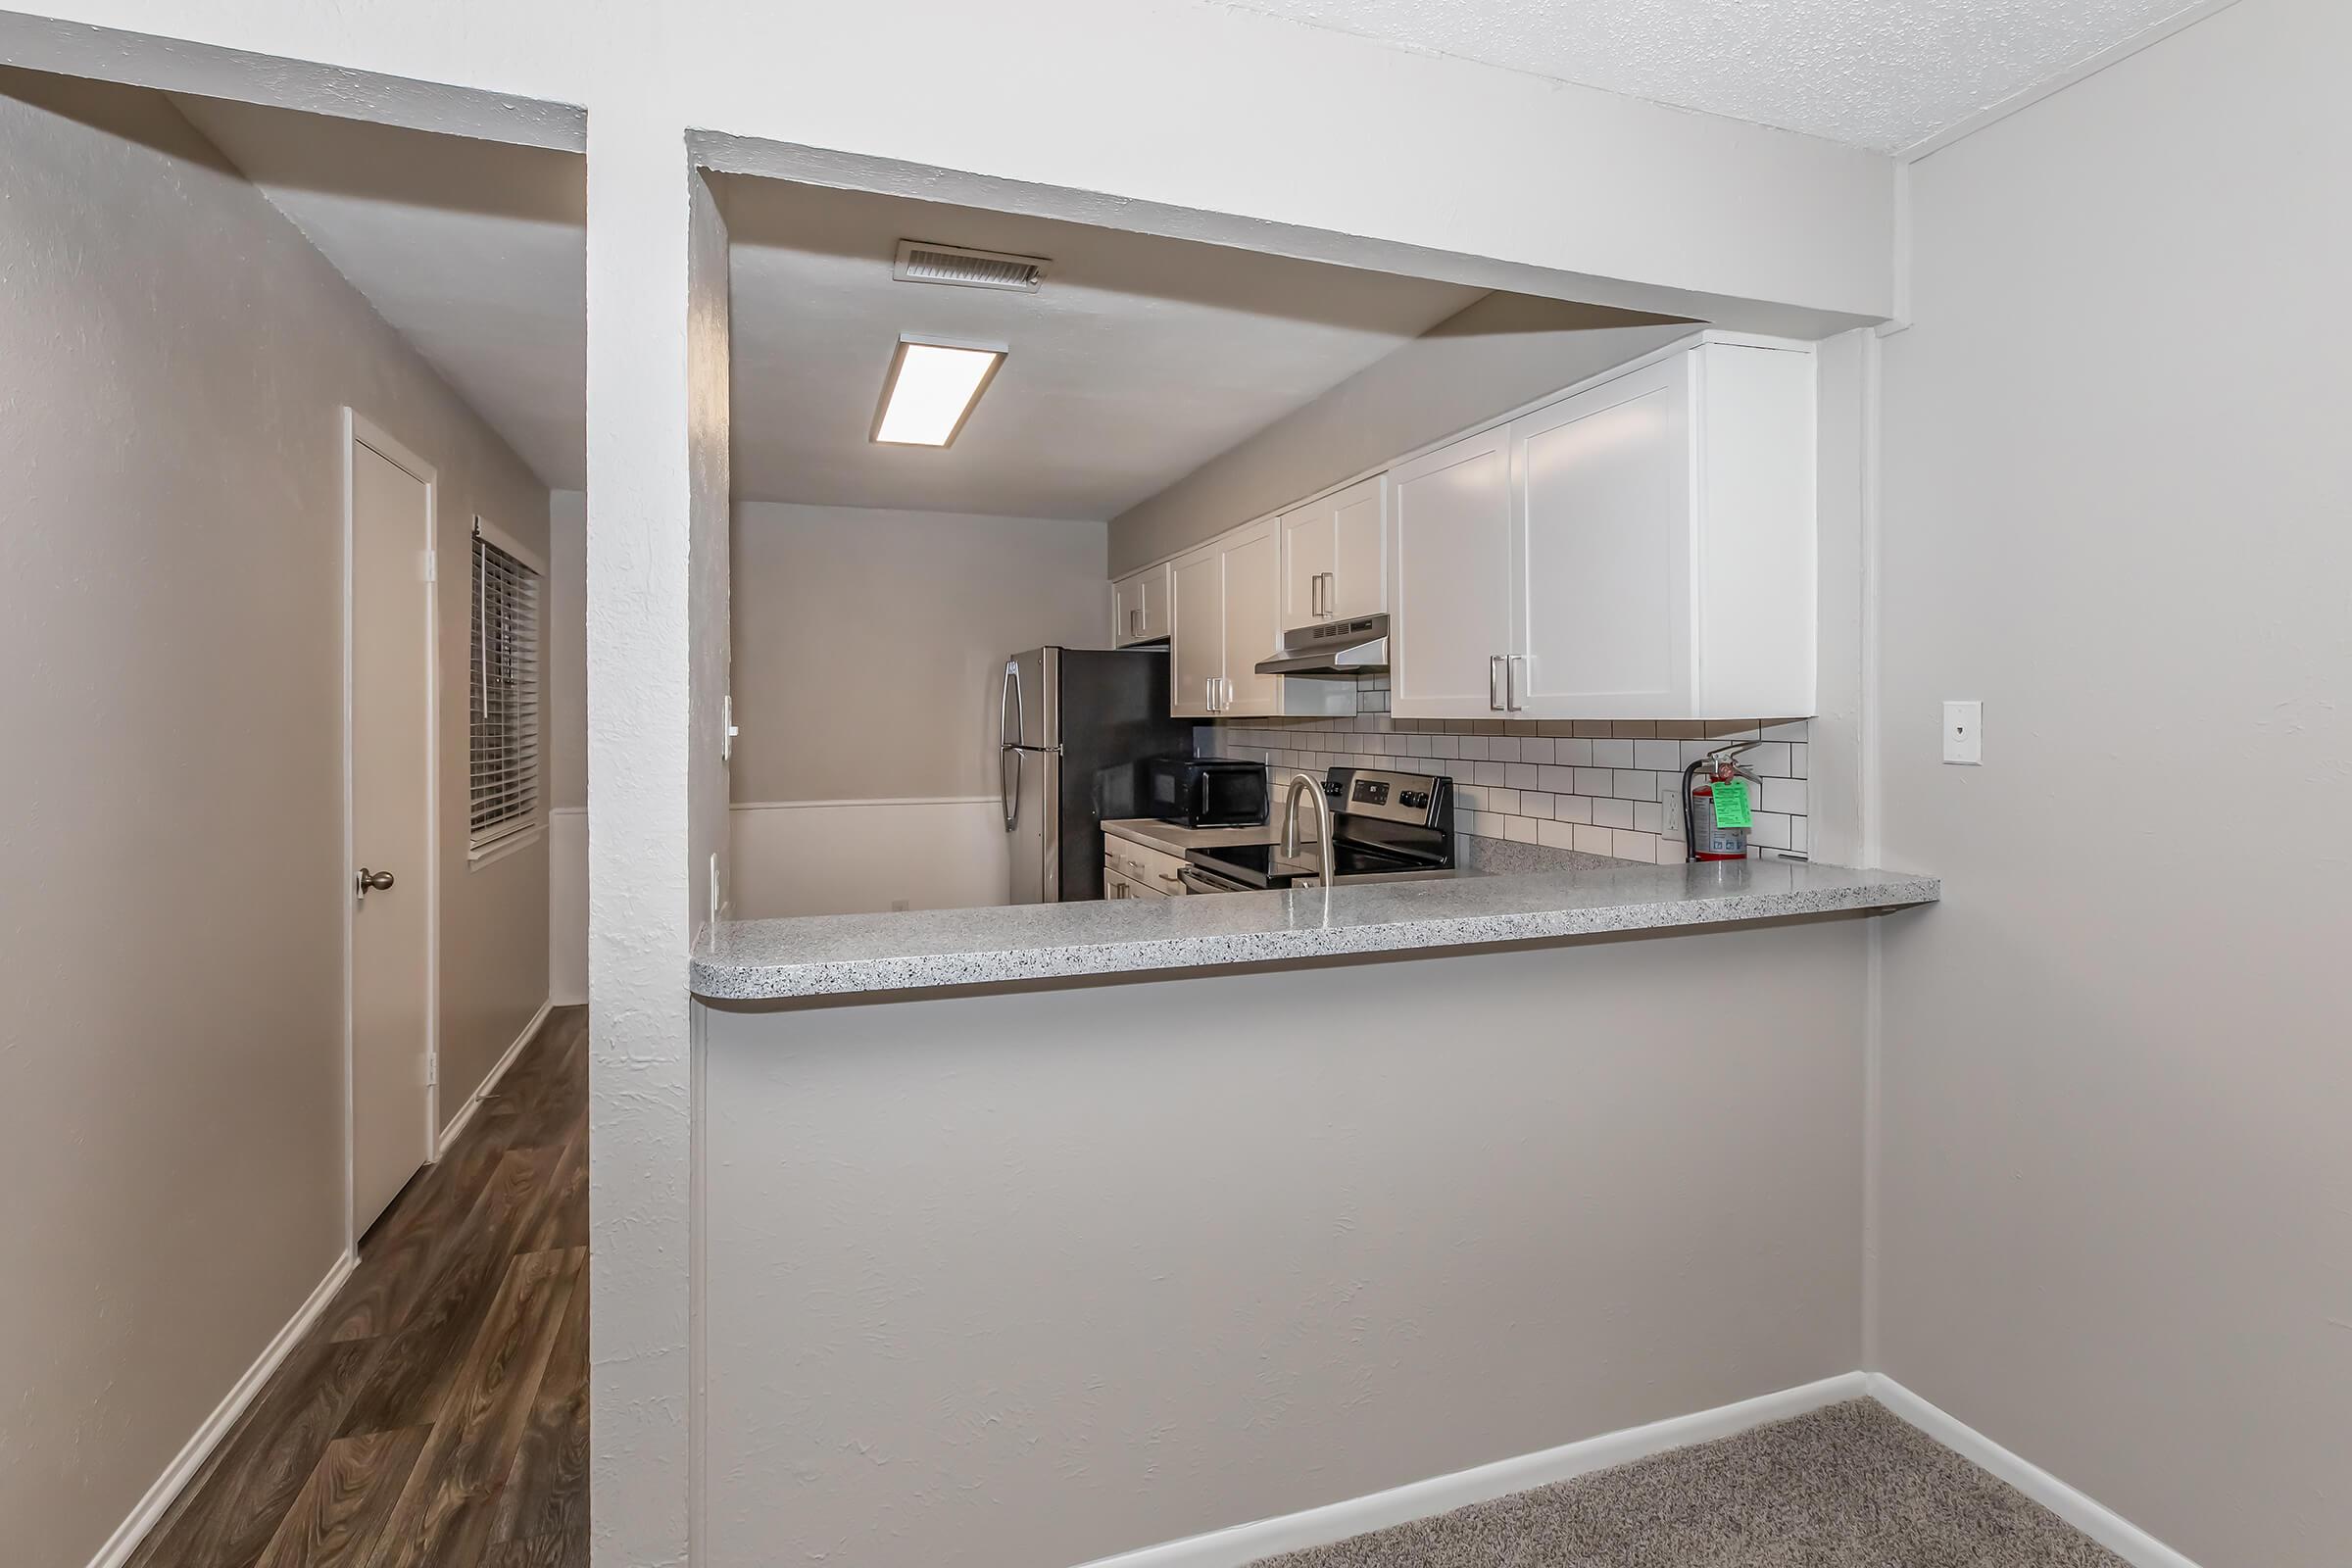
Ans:
POLYGON ((1115 517, 1477 289, 971 207, 722 179, 734 491, 1115 517), (1047 256, 1037 294, 891 280, 898 240, 1047 256), (1011 353, 946 449, 868 440, 901 331, 1011 353))

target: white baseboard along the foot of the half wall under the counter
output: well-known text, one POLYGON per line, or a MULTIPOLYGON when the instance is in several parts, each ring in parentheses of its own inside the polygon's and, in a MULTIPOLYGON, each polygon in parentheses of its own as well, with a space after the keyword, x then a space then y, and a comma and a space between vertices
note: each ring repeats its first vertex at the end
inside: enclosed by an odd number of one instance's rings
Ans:
POLYGON ((1409 1481, 1406 1486, 1392 1486, 1385 1493, 1369 1493, 1345 1502, 1327 1502, 1324 1507, 1301 1509, 1298 1514, 1258 1519, 1225 1530, 1209 1530, 1204 1535, 1188 1535, 1157 1547, 1143 1547, 1141 1552, 1103 1556, 1084 1568, 1242 1568, 1242 1563, 1254 1563, 1261 1556, 1275 1556, 1277 1552, 1327 1547, 1334 1540, 1348 1540, 1350 1535, 1362 1535, 1364 1530, 1385 1530, 1395 1523, 1428 1519, 1430 1514, 1444 1514, 1472 1502, 1503 1497, 1508 1493, 1524 1493, 1531 1486, 1569 1481, 1573 1476, 1609 1469, 1611 1465, 1625 1465, 1668 1448, 1684 1448, 1686 1443, 1705 1443, 1719 1436, 1731 1436, 1733 1432, 1745 1432, 1748 1427, 1759 1427, 1769 1420, 1788 1420, 1790 1415, 1804 1415, 1806 1410, 1832 1406, 1839 1399, 1860 1399, 1865 1392, 1865 1373, 1839 1373, 1837 1378, 1823 1378, 1820 1382, 1780 1389, 1778 1394, 1762 1394, 1757 1399, 1743 1399, 1712 1410, 1698 1410, 1696 1415, 1653 1420, 1646 1427, 1604 1432, 1602 1436, 1588 1436, 1581 1443, 1562 1443, 1559 1448, 1545 1448, 1543 1453, 1526 1453, 1515 1460, 1496 1460, 1494 1465, 1458 1469, 1449 1476, 1409 1481))

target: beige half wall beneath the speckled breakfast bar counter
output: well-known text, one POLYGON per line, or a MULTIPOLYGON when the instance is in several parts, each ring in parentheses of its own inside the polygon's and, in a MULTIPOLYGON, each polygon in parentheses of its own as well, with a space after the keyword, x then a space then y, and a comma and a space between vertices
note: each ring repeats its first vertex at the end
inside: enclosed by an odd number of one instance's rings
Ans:
POLYGON ((1863 936, 708 1011, 696 1563, 1084 1563, 1853 1371, 1863 936))

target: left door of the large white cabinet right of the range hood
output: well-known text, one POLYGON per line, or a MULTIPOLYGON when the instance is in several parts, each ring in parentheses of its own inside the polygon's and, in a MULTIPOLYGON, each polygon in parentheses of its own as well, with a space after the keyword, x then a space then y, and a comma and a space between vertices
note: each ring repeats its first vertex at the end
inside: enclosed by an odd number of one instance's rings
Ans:
POLYGON ((1510 644, 1510 444, 1503 430, 1388 473, 1397 592, 1388 623, 1390 710, 1494 717, 1510 644))

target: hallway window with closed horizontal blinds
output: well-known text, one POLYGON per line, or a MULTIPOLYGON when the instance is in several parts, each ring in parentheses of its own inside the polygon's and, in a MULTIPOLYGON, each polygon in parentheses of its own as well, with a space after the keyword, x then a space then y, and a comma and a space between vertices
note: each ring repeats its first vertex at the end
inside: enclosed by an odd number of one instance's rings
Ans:
POLYGON ((470 846, 539 823, 539 571, 473 520, 470 846))

